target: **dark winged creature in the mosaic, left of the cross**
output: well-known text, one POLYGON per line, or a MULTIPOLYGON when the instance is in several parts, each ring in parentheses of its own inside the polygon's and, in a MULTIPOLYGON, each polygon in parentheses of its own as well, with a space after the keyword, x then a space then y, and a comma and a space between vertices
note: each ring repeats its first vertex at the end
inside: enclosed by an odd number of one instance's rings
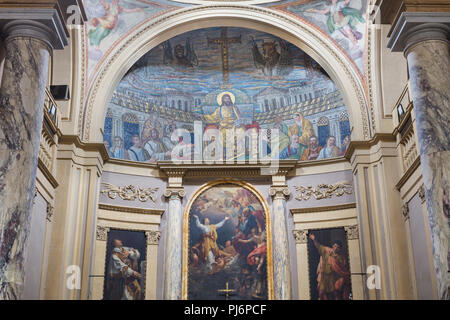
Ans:
POLYGON ((198 66, 198 58, 189 38, 186 39, 184 46, 177 44, 173 50, 169 40, 164 42, 162 46, 164 64, 189 68, 198 66))

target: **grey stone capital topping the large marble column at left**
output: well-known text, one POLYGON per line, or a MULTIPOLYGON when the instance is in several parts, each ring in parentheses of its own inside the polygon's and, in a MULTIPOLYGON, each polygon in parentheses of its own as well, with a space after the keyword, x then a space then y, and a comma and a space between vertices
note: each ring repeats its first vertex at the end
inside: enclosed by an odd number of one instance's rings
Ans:
POLYGON ((43 41, 49 51, 68 45, 68 31, 56 8, 2 8, 0 30, 5 41, 31 37, 43 41))

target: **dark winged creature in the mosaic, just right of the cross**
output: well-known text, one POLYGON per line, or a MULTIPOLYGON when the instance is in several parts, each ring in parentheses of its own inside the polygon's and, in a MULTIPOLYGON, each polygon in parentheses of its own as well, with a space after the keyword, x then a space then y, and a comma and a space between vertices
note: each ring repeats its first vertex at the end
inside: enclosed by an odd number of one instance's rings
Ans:
POLYGON ((252 53, 255 67, 260 69, 266 76, 285 76, 293 69, 293 61, 289 45, 286 41, 279 39, 275 41, 264 41, 262 53, 253 39, 252 53), (277 47, 280 47, 280 52, 277 47))

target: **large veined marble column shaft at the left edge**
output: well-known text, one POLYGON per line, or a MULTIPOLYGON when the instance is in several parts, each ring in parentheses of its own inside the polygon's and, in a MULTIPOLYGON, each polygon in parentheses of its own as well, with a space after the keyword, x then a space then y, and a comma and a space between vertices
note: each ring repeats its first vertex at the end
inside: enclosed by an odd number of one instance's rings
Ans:
POLYGON ((22 36, 17 25, 11 31, 0 87, 0 300, 19 299, 23 288, 52 50, 39 29, 36 37, 22 36))

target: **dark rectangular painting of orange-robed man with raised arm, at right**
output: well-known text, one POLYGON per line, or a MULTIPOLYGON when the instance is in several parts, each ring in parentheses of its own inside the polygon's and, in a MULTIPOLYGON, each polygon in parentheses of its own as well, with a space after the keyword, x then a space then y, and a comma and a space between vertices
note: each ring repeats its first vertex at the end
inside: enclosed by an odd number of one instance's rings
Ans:
POLYGON ((311 300, 352 299, 344 228, 309 231, 308 266, 311 300))

